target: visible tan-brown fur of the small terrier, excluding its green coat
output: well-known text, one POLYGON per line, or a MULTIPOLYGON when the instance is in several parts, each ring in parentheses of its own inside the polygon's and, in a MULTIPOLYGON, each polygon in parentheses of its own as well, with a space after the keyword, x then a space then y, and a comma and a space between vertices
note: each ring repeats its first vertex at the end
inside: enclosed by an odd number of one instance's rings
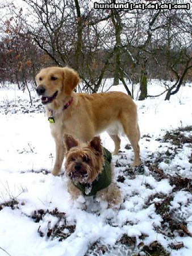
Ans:
MULTIPOLYGON (((74 183, 91 184, 97 179, 103 169, 103 151, 100 137, 94 137, 88 144, 81 143, 71 135, 64 135, 66 147, 65 174, 69 177, 68 192, 72 200, 83 195, 74 183)), ((112 165, 111 165, 112 167, 112 165)), ((113 168, 111 168, 113 178, 113 168)), ((113 207, 122 201, 120 189, 112 181, 107 188, 101 189, 96 194, 97 200, 108 201, 108 206, 113 207)))

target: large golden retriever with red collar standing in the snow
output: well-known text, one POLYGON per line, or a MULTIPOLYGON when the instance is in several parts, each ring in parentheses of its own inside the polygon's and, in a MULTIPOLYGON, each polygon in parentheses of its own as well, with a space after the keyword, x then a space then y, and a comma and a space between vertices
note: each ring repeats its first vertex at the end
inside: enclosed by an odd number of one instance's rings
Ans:
POLYGON ((139 166, 140 131, 136 105, 130 96, 122 92, 74 93, 80 78, 68 67, 41 69, 36 82, 36 92, 41 96, 56 143, 53 175, 59 174, 64 160, 64 134, 88 142, 106 130, 115 143, 113 154, 118 154, 120 134, 126 134, 135 155, 133 166, 139 166))

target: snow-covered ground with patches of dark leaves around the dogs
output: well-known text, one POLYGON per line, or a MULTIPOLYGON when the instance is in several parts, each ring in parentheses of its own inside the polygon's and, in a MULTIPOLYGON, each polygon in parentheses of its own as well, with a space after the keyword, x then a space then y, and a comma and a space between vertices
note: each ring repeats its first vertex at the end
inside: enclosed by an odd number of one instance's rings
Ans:
MULTIPOLYGON (((150 95, 163 90, 158 81, 148 86, 150 95)), ((27 93, 1 89, 0 255, 191 255, 191 95, 188 84, 170 101, 136 100, 142 165, 129 168, 133 151, 122 138, 113 162, 123 203, 107 209, 70 201, 65 175, 50 174, 55 143, 40 101, 30 106, 27 93)), ((112 151, 107 133, 101 138, 112 151)))

